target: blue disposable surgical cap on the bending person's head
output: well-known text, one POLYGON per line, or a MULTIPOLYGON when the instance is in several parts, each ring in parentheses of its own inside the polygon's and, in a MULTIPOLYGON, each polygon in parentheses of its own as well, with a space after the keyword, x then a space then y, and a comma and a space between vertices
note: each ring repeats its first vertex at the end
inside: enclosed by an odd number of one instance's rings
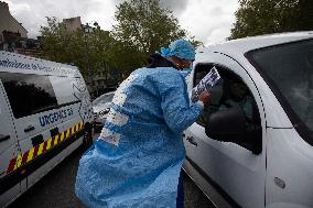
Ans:
POLYGON ((170 44, 169 47, 161 48, 162 56, 177 56, 180 58, 194 61, 195 59, 195 48, 186 40, 179 39, 170 44))

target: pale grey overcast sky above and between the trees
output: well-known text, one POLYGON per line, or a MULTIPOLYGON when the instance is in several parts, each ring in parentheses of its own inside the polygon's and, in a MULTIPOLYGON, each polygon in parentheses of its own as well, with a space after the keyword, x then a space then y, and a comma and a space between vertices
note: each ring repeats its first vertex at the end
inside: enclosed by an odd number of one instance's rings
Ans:
MULTIPOLYGON (((29 37, 40 33, 45 17, 82 17, 82 22, 97 21, 104 30, 114 24, 116 6, 122 0, 4 0, 11 14, 29 31, 29 37)), ((183 29, 205 45, 223 42, 230 34, 238 0, 161 0, 174 12, 183 29)))

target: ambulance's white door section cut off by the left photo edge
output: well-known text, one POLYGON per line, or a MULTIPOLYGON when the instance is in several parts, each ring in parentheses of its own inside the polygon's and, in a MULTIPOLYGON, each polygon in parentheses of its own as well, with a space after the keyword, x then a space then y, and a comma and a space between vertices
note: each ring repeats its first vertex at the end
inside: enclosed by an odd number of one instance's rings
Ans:
POLYGON ((20 154, 12 113, 1 83, 0 73, 0 207, 20 193, 17 173, 11 172, 12 158, 20 154))

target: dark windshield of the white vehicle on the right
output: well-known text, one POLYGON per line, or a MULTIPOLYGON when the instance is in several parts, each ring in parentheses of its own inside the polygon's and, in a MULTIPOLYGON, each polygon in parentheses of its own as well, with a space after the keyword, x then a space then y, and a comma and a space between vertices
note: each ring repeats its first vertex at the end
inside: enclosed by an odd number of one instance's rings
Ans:
POLYGON ((295 117, 293 124, 304 124, 312 132, 313 40, 252 51, 248 56, 284 102, 287 113, 295 117))

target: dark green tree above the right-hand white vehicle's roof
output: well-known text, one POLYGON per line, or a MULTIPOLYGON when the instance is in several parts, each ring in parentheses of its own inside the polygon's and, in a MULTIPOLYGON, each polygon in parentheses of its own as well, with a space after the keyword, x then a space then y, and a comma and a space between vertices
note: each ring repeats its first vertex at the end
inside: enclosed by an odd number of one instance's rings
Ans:
POLYGON ((230 40, 313 29, 310 0, 239 0, 239 3, 230 40))

